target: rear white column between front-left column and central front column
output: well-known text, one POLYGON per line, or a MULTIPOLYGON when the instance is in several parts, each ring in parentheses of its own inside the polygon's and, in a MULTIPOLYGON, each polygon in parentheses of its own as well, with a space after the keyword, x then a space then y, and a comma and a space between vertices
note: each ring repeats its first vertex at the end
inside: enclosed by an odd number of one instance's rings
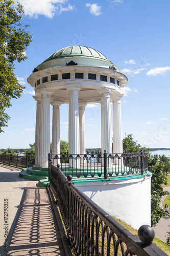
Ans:
MULTIPOLYGON (((60 155, 60 105, 61 103, 54 101, 52 105, 53 105, 52 155, 60 155)), ((58 163, 59 162, 60 161, 58 161, 58 163)))

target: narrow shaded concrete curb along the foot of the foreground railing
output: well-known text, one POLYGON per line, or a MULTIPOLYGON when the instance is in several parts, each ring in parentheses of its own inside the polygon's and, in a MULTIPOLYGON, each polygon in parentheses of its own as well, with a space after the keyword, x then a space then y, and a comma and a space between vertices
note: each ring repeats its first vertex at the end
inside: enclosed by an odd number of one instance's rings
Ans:
POLYGON ((71 252, 71 249, 69 247, 69 241, 68 241, 68 238, 66 237, 65 230, 64 230, 64 227, 63 227, 63 223, 61 221, 59 211, 58 211, 57 207, 55 207, 56 202, 54 200, 52 191, 49 187, 47 187, 46 190, 48 192, 48 195, 50 196, 50 200, 51 200, 52 205, 53 205, 53 210, 54 210, 56 220, 57 220, 57 224, 58 224, 58 227, 59 227, 61 241, 62 241, 62 244, 63 244, 65 255, 66 256, 72 256, 72 252, 71 252))

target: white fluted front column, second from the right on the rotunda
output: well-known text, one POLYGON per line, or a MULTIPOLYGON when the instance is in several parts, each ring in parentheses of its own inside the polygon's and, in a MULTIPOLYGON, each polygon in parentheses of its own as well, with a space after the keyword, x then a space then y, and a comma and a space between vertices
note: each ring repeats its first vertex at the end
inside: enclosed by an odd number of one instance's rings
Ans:
POLYGON ((110 90, 105 90, 101 97, 101 123, 102 123, 102 153, 106 150, 107 154, 112 153, 112 134, 111 134, 111 108, 110 90))

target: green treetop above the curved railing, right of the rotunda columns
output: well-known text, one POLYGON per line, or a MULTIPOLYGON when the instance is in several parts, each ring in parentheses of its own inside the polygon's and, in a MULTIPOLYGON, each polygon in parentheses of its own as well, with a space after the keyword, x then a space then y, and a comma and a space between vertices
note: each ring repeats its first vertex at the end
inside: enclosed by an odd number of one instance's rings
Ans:
POLYGON ((134 140, 132 134, 125 134, 125 136, 126 137, 123 139, 124 152, 140 152, 141 150, 145 150, 145 147, 142 147, 140 144, 137 144, 137 140, 134 140))

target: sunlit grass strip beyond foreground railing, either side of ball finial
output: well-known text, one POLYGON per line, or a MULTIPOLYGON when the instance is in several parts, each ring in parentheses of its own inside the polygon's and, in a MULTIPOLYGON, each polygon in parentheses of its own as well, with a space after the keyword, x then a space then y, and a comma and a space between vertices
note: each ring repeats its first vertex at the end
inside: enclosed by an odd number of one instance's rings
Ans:
MULTIPOLYGON (((112 216, 113 217, 113 216, 112 216)), ((114 217, 113 217, 114 218, 114 217)), ((117 220, 114 218, 117 222, 119 222, 121 225, 123 225, 126 229, 128 229, 132 234, 137 234, 137 229, 131 227, 130 225, 126 224, 125 222, 121 220, 117 220)), ((170 256, 170 246, 165 244, 164 242, 160 241, 157 238, 154 238, 153 242, 162 250, 164 251, 168 256, 170 256)))

